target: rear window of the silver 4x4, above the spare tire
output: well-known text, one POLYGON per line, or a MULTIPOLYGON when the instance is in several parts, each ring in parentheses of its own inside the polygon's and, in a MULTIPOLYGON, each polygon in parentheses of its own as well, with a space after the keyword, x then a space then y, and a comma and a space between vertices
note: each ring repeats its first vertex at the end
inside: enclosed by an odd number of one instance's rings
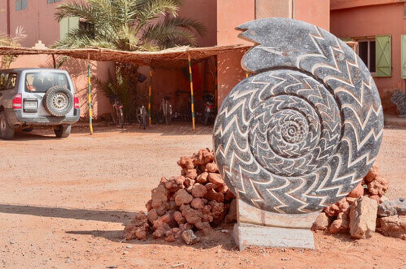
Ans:
POLYGON ((46 92, 53 86, 64 86, 71 89, 65 74, 53 72, 36 72, 25 75, 25 91, 46 92))

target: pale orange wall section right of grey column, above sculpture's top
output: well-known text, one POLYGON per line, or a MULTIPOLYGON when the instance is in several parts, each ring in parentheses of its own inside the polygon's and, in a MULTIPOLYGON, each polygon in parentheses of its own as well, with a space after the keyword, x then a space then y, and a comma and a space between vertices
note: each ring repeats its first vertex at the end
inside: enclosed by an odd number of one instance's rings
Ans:
POLYGON ((330 29, 330 0, 294 1, 294 18, 330 29))

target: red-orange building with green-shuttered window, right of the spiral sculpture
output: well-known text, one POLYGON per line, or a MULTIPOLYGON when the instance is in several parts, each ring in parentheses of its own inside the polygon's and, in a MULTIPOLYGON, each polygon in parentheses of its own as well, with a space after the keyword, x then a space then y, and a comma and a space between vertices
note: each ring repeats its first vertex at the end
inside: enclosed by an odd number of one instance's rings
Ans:
POLYGON ((330 31, 357 41, 357 52, 374 77, 386 114, 397 114, 390 98, 406 92, 406 3, 404 0, 331 0, 330 31))

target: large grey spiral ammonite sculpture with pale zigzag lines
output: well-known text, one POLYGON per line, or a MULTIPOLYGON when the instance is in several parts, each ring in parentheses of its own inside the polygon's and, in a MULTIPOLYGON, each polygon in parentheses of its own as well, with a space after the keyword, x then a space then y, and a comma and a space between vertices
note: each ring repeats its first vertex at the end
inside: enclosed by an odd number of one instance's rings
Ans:
POLYGON ((216 161, 228 187, 259 209, 322 210, 345 197, 382 141, 378 90, 340 39, 284 18, 251 21, 240 37, 253 73, 236 85, 214 126, 216 161))

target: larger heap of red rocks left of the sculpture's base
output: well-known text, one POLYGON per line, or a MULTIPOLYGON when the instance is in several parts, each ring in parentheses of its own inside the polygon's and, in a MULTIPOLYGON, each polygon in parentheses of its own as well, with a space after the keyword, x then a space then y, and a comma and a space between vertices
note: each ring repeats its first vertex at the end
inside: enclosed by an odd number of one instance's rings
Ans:
POLYGON ((198 240, 193 230, 205 232, 223 221, 235 221, 235 196, 219 174, 213 151, 200 149, 181 157, 178 165, 181 176, 163 177, 146 204, 148 213, 138 213, 125 227, 127 240, 143 240, 152 233, 167 242, 182 238, 193 244, 198 240))

